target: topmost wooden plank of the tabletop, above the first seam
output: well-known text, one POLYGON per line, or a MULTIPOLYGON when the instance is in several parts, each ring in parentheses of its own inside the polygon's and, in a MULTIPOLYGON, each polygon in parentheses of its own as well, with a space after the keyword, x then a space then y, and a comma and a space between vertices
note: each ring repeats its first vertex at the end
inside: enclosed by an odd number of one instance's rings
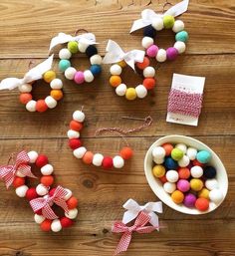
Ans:
MULTIPOLYGON (((0 23, 6 24, 7 29, 0 27, 0 57, 45 58, 53 36, 59 32, 74 33, 78 27, 96 34, 102 54, 109 38, 117 40, 125 50, 141 48, 142 32, 128 35, 131 24, 139 19, 140 11, 144 8, 161 11, 163 2, 22 0, 18 4, 18 1, 3 0, 0 3, 0 23), (124 40, 121 40, 122 36, 124 40)), ((232 0, 191 0, 188 12, 182 16, 190 35, 187 54, 235 53, 234 15, 232 0), (218 36, 221 33, 222 36, 218 36)), ((169 40, 169 33, 159 35, 159 38, 162 37, 160 45, 173 43, 173 36, 169 40)))

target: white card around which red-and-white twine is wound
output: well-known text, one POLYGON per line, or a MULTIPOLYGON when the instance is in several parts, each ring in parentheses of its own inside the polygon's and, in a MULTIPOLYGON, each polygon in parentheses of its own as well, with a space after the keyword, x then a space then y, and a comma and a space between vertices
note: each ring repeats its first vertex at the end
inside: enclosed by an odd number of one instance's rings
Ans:
MULTIPOLYGON (((203 95, 205 84, 204 77, 173 74, 171 90, 178 90, 186 94, 203 95)), ((168 103, 169 104, 169 103, 168 103)), ((186 108, 186 107, 185 107, 186 108)), ((166 122, 197 127, 199 117, 167 112, 166 122)))

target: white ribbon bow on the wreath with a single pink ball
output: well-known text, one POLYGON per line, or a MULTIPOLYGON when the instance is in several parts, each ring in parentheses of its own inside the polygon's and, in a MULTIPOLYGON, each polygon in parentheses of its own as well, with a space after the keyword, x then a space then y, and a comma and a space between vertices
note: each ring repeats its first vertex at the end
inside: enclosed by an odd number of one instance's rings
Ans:
POLYGON ((71 41, 76 41, 79 43, 83 43, 86 45, 95 45, 97 44, 96 42, 96 36, 93 33, 85 33, 82 35, 78 35, 78 36, 71 36, 71 35, 67 35, 65 33, 59 33, 56 37, 54 37, 51 40, 51 44, 50 44, 50 48, 49 48, 49 52, 57 45, 61 45, 61 44, 65 44, 71 41))

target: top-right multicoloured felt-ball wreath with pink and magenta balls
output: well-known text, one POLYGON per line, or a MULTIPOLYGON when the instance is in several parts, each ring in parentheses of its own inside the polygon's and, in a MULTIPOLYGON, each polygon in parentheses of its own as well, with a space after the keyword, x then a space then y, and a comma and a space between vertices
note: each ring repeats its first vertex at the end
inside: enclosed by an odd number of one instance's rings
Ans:
POLYGON ((184 23, 180 20, 175 21, 173 16, 165 15, 162 18, 154 19, 151 25, 144 28, 142 47, 145 49, 146 55, 155 58, 157 62, 173 61, 179 54, 185 52, 187 40, 188 33, 184 30, 184 23), (157 31, 162 29, 172 29, 175 33, 175 44, 166 50, 154 44, 157 31))

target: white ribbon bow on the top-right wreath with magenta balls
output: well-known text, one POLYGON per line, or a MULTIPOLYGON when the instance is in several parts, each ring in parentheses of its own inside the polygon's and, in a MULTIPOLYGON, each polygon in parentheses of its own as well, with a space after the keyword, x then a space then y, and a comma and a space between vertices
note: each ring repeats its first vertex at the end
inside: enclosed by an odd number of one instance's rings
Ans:
POLYGON ((176 5, 170 7, 166 12, 157 14, 153 10, 145 9, 141 12, 141 19, 135 20, 132 24, 130 32, 144 28, 151 25, 154 19, 162 18, 165 15, 171 15, 173 17, 179 16, 180 14, 187 11, 189 0, 183 0, 176 5))

